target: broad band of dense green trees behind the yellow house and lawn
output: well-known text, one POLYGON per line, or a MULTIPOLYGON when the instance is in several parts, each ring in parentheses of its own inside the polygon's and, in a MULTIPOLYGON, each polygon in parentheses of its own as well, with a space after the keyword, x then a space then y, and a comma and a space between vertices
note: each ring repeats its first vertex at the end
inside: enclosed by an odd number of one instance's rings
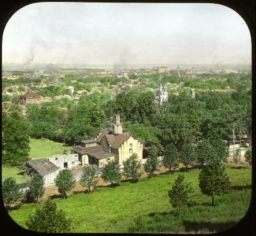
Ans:
MULTIPOLYGON (((27 105, 29 133, 34 138, 49 138, 58 142, 74 144, 95 137, 97 132, 110 128, 113 114, 120 113, 124 131, 131 132, 145 147, 148 156, 152 145, 159 156, 168 145, 178 152, 186 144, 195 147, 200 142, 233 142, 233 124, 236 140, 246 134, 252 136, 252 90, 237 92, 196 91, 195 99, 189 92, 179 96, 170 94, 168 101, 159 107, 156 94, 143 89, 120 92, 113 99, 111 94, 94 92, 82 96, 77 104, 68 99, 27 105)), ((18 112, 21 110, 17 107, 18 112)), ((12 110, 15 110, 13 108, 12 110)), ((4 117, 10 124, 10 137, 15 135, 14 126, 24 119, 4 117)), ((9 128, 4 128, 4 134, 9 128)), ((17 133, 17 136, 20 134, 17 133)), ((12 142, 6 133, 6 144, 12 142)), ((10 151, 11 149, 8 149, 10 151)), ((7 158, 7 159, 10 159, 7 158)), ((11 158, 12 159, 12 158, 11 158)))

